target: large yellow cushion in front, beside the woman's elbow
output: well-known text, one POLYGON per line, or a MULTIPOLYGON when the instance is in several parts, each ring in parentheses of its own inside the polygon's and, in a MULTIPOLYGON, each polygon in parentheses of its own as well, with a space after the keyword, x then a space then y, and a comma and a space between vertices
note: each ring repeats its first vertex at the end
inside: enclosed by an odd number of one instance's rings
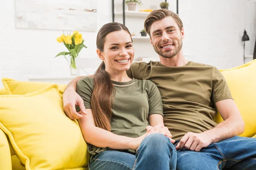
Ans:
POLYGON ((26 170, 84 170, 89 155, 77 121, 63 111, 58 86, 0 95, 0 129, 26 170))

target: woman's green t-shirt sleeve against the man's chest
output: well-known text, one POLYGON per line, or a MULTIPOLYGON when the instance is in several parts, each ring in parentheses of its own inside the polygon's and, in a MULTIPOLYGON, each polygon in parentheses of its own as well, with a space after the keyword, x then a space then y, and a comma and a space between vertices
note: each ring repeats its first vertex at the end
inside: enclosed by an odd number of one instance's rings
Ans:
POLYGON ((148 82, 148 105, 149 105, 149 112, 148 116, 151 114, 161 114, 163 116, 163 103, 161 94, 155 85, 150 80, 148 82))

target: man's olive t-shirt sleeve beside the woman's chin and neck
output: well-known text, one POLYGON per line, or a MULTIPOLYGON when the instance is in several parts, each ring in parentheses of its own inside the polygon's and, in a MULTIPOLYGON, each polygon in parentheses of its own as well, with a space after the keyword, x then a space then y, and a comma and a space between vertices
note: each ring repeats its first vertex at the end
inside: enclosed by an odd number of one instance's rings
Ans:
POLYGON ((134 62, 126 73, 130 78, 142 80, 144 79, 143 76, 146 73, 147 67, 146 62, 134 62))

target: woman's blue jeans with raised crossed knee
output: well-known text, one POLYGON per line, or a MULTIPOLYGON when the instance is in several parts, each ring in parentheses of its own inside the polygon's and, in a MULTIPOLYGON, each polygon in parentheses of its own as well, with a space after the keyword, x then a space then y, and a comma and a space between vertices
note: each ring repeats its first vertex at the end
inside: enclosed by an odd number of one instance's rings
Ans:
POLYGON ((106 150, 92 156, 89 170, 176 170, 177 151, 163 134, 145 137, 136 155, 106 150))

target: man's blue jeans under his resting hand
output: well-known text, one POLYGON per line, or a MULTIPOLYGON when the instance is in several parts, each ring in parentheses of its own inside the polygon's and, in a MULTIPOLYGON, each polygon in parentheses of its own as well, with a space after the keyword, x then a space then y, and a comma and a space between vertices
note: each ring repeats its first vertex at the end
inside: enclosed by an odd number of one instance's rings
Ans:
POLYGON ((235 136, 177 157, 177 170, 256 170, 256 139, 235 136))

